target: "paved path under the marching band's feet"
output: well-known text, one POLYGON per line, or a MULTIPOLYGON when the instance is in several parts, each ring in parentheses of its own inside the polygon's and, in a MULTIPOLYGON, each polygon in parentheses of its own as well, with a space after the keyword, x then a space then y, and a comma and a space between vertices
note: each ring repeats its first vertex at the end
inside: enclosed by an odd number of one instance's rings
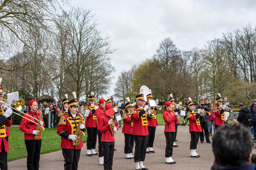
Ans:
MULTIPOLYGON (((191 158, 189 157, 189 141, 190 134, 188 132, 188 126, 179 126, 177 135, 177 145, 179 147, 173 148, 173 160, 177 164, 165 164, 164 162, 164 126, 159 125, 156 130, 156 139, 154 142, 154 150, 156 153, 149 153, 146 155, 145 166, 151 169, 210 169, 214 160, 211 144, 198 143, 198 152, 201 157, 191 158)), ((124 134, 122 129, 116 134, 115 148, 117 151, 114 153, 113 169, 134 169, 133 160, 124 159, 124 134)), ((255 149, 253 149, 255 152, 255 149)), ((98 164, 98 156, 86 157, 86 146, 84 145, 81 151, 81 157, 79 160, 79 169, 103 169, 103 166, 98 164)), ((40 156, 40 169, 63 169, 63 157, 61 151, 45 153, 40 156)), ((8 169, 26 169, 26 159, 14 160, 8 162, 8 169)))

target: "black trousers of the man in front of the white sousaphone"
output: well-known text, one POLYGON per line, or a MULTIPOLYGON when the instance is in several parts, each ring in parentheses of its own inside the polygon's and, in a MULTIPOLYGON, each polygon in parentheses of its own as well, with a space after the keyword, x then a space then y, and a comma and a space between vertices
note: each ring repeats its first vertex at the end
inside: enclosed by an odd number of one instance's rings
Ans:
POLYGON ((135 152, 134 152, 134 162, 140 162, 145 160, 148 136, 134 135, 135 141, 135 152))

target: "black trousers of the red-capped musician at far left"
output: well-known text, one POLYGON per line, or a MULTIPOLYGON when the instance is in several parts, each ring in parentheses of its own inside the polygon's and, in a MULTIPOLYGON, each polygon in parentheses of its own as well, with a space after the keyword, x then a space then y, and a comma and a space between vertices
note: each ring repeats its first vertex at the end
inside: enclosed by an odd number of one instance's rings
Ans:
POLYGON ((26 145, 27 152, 28 152, 28 157, 27 157, 28 170, 38 170, 42 139, 25 140, 25 145, 26 145))

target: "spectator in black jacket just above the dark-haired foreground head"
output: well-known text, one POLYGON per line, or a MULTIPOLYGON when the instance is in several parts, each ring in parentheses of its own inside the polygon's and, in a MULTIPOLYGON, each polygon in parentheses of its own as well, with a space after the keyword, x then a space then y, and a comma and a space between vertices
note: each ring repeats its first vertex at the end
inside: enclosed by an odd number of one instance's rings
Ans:
POLYGON ((237 121, 239 121, 239 123, 243 124, 245 127, 249 127, 249 123, 251 121, 251 113, 249 108, 245 107, 243 103, 240 103, 239 109, 240 111, 237 121))

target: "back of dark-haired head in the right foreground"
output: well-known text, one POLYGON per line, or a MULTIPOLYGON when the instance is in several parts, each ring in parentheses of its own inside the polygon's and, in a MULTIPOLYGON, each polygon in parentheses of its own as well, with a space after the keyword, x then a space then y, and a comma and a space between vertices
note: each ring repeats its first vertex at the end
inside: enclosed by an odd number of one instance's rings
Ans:
POLYGON ((224 124, 212 137, 212 150, 219 166, 243 166, 249 164, 252 153, 252 136, 241 125, 224 124))

